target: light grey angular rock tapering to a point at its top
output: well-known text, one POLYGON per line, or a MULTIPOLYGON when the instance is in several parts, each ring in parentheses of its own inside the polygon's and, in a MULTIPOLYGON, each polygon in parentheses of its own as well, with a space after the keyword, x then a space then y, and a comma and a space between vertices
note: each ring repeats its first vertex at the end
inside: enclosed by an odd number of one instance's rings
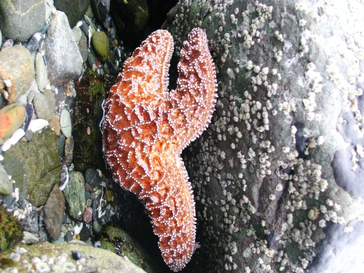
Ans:
POLYGON ((82 57, 74 40, 67 16, 56 11, 44 40, 49 79, 54 85, 64 84, 81 75, 82 57))

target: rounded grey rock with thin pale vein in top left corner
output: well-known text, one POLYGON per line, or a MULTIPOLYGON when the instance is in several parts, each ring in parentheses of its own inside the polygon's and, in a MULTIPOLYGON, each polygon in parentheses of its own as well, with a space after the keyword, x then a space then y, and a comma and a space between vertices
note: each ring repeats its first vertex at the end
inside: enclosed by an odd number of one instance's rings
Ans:
POLYGON ((27 41, 46 27, 53 0, 0 1, 0 27, 3 35, 16 42, 27 41))

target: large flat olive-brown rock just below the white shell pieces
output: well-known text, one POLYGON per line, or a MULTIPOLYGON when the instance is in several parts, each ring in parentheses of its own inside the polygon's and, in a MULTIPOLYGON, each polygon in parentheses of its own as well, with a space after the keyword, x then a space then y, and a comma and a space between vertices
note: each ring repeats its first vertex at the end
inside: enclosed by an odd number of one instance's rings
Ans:
POLYGON ((59 183, 61 160, 56 134, 45 129, 32 141, 18 142, 3 154, 3 166, 20 192, 33 205, 44 205, 53 186, 59 183), (55 168, 55 169, 54 169, 55 168))

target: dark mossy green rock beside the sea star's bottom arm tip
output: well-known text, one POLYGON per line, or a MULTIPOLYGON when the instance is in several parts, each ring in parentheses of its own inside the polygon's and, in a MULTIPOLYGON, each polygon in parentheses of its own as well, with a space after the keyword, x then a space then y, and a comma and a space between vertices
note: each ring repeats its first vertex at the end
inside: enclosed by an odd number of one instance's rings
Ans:
POLYGON ((143 247, 121 228, 107 226, 100 234, 100 242, 101 248, 126 256, 147 273, 162 272, 143 247))

